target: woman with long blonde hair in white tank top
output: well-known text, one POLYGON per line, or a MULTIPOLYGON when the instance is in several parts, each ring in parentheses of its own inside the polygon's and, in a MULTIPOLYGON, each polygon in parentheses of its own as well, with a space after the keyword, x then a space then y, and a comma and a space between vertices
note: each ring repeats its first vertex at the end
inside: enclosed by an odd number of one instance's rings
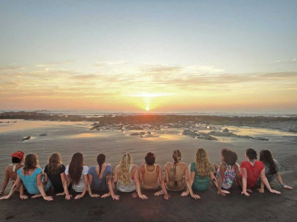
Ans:
POLYGON ((113 183, 117 183, 116 187, 121 192, 132 192, 136 190, 137 193, 132 194, 133 198, 139 196, 143 200, 148 199, 146 195, 141 194, 138 167, 132 164, 130 153, 124 153, 120 165, 116 166, 113 183))

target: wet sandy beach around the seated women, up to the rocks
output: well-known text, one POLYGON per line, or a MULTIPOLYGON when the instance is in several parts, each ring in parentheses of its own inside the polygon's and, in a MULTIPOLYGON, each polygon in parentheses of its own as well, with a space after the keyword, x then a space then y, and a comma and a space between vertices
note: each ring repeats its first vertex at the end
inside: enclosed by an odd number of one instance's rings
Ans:
MULTIPOLYGON (((197 147, 206 149, 210 161, 216 163, 220 162, 222 148, 236 151, 240 163, 244 160, 245 149, 251 147, 257 152, 269 149, 281 164, 283 181, 293 186, 292 190, 283 189, 275 180, 271 187, 282 194, 271 194, 267 190, 260 194, 254 188, 251 196, 245 197, 241 195, 241 189, 233 185, 231 194, 222 197, 217 195, 217 189, 211 184, 206 192, 195 192, 200 195, 200 200, 194 200, 190 196, 181 197, 181 192, 170 192, 170 200, 164 200, 162 197, 154 197, 153 190, 144 189, 142 192, 149 197, 148 200, 133 199, 130 193, 118 191, 116 193, 121 196, 119 201, 113 201, 111 197, 91 198, 88 194, 80 200, 69 201, 64 200, 64 197, 54 197, 50 202, 41 198, 20 200, 15 193, 10 200, 0 202, 1 221, 296 221, 297 135, 294 132, 207 124, 187 128, 161 126, 160 129, 150 129, 148 126, 143 130, 128 130, 123 126, 122 132, 119 126, 100 126, 98 128, 101 130, 90 130, 96 125, 93 121, 2 119, 1 122, 1 184, 4 169, 10 163, 10 154, 17 150, 26 154, 36 153, 41 167, 47 164, 54 151, 61 154, 64 165, 69 164, 75 152, 82 152, 84 164, 89 167, 97 164, 96 157, 99 153, 105 153, 107 162, 111 163, 113 168, 119 163, 124 152, 130 152, 134 164, 139 166, 144 163, 146 152, 152 151, 157 156, 156 163, 164 168, 165 163, 172 160, 172 151, 176 148, 182 152, 182 162, 189 164, 194 160, 197 147), (224 128, 236 135, 262 137, 268 141, 234 136, 214 136, 217 140, 206 140, 197 139, 196 135, 192 138, 182 134, 185 130, 195 130, 196 134, 222 132, 224 128), (148 131, 151 134, 147 134, 148 131), (129 136, 140 132, 146 134, 129 136), (48 136, 40 136, 41 134, 48 136), (21 141, 26 136, 31 138, 21 141)), ((9 189, 10 185, 4 195, 9 193, 9 189)), ((70 193, 75 195, 73 190, 70 193)), ((54 192, 50 194, 54 195, 54 192)))

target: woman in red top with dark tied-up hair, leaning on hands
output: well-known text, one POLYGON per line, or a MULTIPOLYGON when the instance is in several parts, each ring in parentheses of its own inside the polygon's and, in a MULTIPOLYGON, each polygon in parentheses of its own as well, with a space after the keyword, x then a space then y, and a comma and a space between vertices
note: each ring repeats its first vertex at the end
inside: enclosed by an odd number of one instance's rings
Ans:
POLYGON ((259 176, 261 181, 271 193, 280 194, 281 192, 271 189, 265 176, 265 168, 263 163, 261 161, 256 161, 257 152, 254 149, 248 148, 245 152, 245 157, 247 161, 241 162, 240 167, 238 167, 240 171, 239 178, 236 178, 236 182, 242 187, 241 194, 249 196, 248 192, 252 192, 252 190, 247 188, 252 188, 255 186, 259 176))

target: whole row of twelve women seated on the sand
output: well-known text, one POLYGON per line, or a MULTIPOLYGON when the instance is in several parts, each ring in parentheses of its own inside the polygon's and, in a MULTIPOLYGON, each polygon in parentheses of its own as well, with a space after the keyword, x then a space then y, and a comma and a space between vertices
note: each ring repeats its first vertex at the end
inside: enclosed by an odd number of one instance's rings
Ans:
POLYGON ((260 161, 256 161, 257 153, 254 149, 247 149, 245 157, 247 161, 242 161, 239 166, 237 154, 229 149, 222 149, 222 163, 210 163, 206 151, 198 148, 195 155, 195 162, 189 166, 181 163, 181 152, 178 149, 173 151, 173 162, 165 165, 165 179, 162 178, 162 168, 155 164, 155 155, 148 152, 145 157, 146 164, 137 165, 132 163, 130 153, 125 153, 120 164, 113 169, 110 164, 106 164, 104 154, 97 157, 97 166, 88 168, 83 164, 83 155, 75 153, 72 156, 70 164, 65 167, 61 162, 59 153, 54 152, 49 163, 45 166, 44 172, 38 164, 37 155, 34 153, 24 155, 18 151, 12 155, 12 165, 8 165, 5 171, 5 180, 2 186, 1 194, 4 192, 9 179, 12 180, 12 188, 7 196, 0 199, 8 199, 15 190, 20 192, 21 199, 27 199, 24 195, 24 188, 29 194, 34 194, 32 198, 43 197, 45 200, 53 200, 52 196, 46 194, 53 186, 56 195, 65 195, 65 199, 69 200, 72 195, 68 189, 72 187, 75 192, 81 192, 74 199, 80 199, 86 192, 91 197, 99 197, 92 191, 105 191, 101 197, 111 195, 113 200, 119 200, 120 196, 114 193, 114 185, 116 183, 117 190, 120 192, 134 192, 132 197, 140 197, 148 199, 141 193, 140 186, 144 189, 157 189, 161 187, 161 191, 154 195, 164 194, 164 199, 169 199, 170 195, 167 190, 181 191, 184 189, 185 183, 187 190, 181 193, 181 196, 191 196, 200 199, 200 196, 193 193, 193 190, 203 191, 208 189, 209 178, 218 189, 218 194, 225 196, 233 182, 241 186, 242 192, 249 196, 248 192, 252 192, 250 188, 256 184, 260 186, 257 189, 260 193, 264 192, 264 185, 269 192, 280 194, 279 191, 271 189, 269 183, 276 177, 283 188, 292 189, 292 187, 283 184, 279 174, 279 163, 272 158, 268 150, 260 152, 260 161), (24 164, 22 164, 24 161, 24 164), (216 173, 214 173, 216 172, 216 173), (215 176, 216 174, 216 176, 215 176), (136 191, 136 192, 135 192, 136 191))

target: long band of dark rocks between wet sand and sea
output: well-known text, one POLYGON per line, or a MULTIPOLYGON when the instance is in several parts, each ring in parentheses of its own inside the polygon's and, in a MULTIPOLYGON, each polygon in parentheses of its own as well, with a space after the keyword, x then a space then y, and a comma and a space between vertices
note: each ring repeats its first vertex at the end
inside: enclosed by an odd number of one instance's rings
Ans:
POLYGON ((112 124, 152 124, 160 126, 166 123, 179 125, 191 122, 192 124, 220 125, 220 126, 249 126, 259 128, 278 129, 287 132, 297 132, 297 117, 272 116, 243 116, 228 117, 217 115, 103 115, 98 117, 84 117, 81 115, 60 115, 43 112, 3 112, 0 119, 23 119, 44 121, 90 121, 100 122, 107 126, 112 124))

